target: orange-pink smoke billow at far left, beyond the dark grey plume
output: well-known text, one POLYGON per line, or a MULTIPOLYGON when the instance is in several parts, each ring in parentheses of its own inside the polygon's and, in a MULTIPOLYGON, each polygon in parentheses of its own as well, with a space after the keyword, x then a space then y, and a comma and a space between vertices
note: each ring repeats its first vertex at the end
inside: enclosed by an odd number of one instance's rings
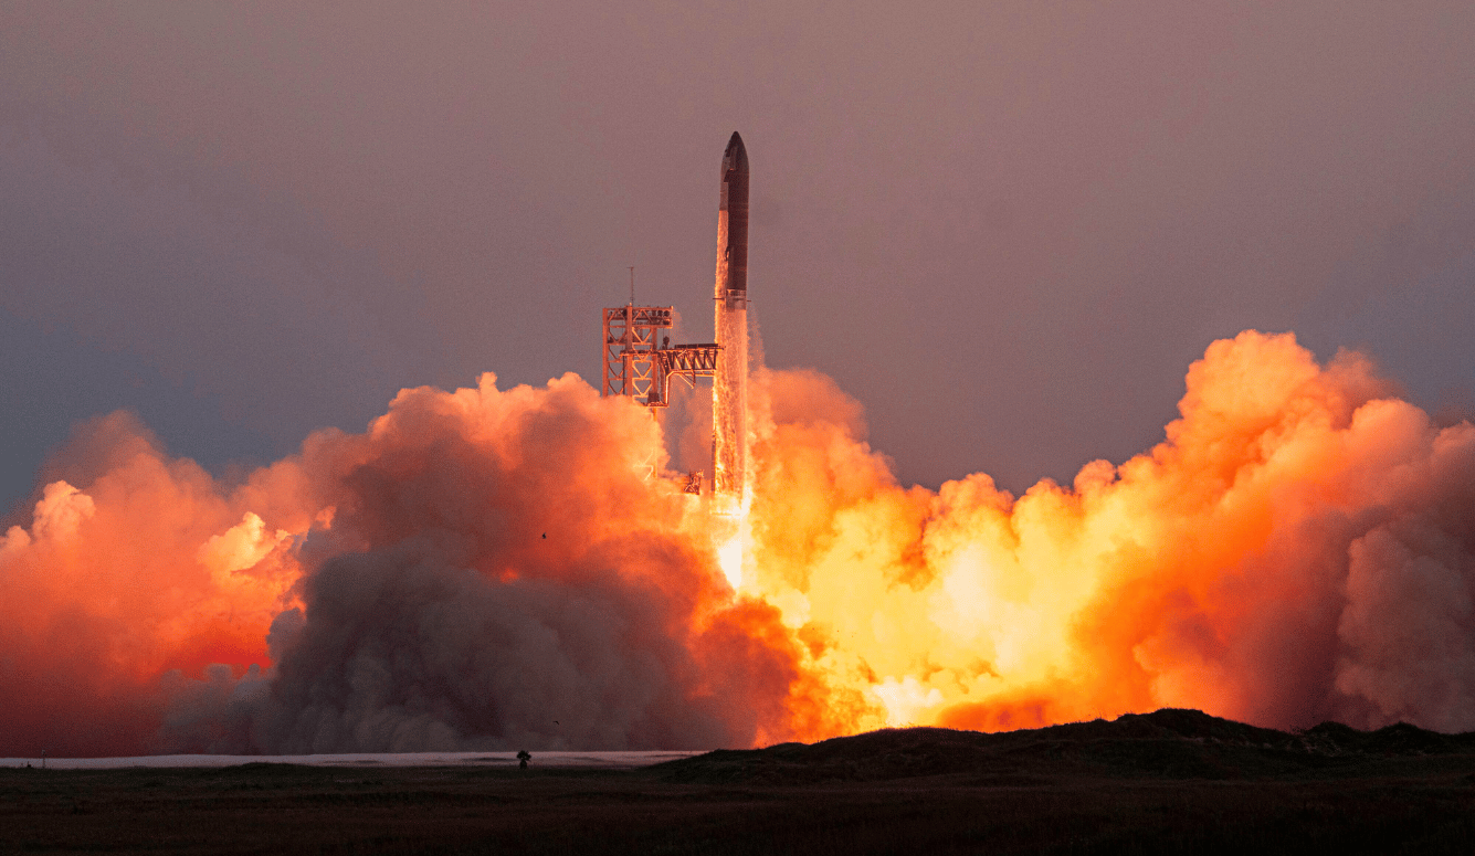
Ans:
POLYGON ((164 675, 266 664, 296 576, 289 533, 251 510, 268 473, 223 491, 121 413, 83 426, 71 452, 30 530, 0 539, 0 751, 143 748, 164 675))

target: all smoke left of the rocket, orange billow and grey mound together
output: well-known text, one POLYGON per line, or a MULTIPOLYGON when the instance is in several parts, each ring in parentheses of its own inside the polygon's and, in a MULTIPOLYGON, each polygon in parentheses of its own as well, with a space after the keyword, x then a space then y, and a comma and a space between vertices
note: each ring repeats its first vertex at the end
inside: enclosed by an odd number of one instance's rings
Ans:
POLYGON ((71 455, 103 474, 3 554, 9 751, 748 746, 823 716, 649 477, 649 415, 574 376, 406 390, 235 491, 124 417, 71 455))

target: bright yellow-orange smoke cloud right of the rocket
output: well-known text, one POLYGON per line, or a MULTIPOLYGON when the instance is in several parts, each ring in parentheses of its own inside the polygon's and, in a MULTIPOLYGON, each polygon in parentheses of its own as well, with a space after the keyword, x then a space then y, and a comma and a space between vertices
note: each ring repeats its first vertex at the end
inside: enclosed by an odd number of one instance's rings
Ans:
POLYGON ((1215 342, 1164 443, 1018 499, 982 474, 903 489, 832 383, 766 379, 757 588, 878 703, 857 726, 1475 728, 1475 427, 1356 354, 1215 342))

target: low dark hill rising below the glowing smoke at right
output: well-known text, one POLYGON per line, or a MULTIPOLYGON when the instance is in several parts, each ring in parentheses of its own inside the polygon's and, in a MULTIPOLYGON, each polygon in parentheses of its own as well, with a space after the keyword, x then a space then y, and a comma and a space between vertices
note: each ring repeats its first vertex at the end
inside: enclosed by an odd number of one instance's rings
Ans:
POLYGON ((1198 710, 981 734, 888 728, 816 744, 718 750, 652 772, 681 782, 801 784, 959 776, 969 784, 1044 784, 1061 776, 1243 779, 1395 772, 1400 757, 1472 756, 1475 734, 1412 725, 1357 731, 1325 722, 1304 732, 1255 728, 1198 710), (1389 766, 1392 765, 1392 766, 1389 766))

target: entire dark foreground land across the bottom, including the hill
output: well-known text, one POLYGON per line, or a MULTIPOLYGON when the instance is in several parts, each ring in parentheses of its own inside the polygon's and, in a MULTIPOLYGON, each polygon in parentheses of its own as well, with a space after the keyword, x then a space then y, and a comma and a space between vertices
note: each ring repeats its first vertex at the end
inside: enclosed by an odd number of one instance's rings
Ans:
POLYGON ((894 729, 640 771, 0 769, 0 850, 1471 853, 1475 734, 1193 710, 894 729))

